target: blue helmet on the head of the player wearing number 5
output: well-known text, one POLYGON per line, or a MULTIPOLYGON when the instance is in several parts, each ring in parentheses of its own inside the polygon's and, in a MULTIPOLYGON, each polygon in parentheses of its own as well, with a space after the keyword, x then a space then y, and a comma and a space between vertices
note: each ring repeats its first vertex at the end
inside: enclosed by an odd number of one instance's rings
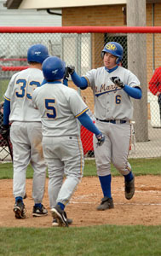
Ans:
POLYGON ((66 63, 56 56, 50 56, 43 61, 42 70, 47 81, 63 79, 66 72, 66 63))

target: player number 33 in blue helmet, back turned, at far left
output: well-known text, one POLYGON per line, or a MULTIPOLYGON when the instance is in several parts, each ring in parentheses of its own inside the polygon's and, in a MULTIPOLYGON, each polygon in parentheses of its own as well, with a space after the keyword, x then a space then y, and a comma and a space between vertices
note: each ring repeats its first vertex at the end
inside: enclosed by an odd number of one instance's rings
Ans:
POLYGON ((49 56, 43 44, 32 45, 27 52, 29 68, 15 73, 4 94, 3 132, 9 131, 14 153, 15 218, 26 218, 23 198, 26 195, 26 168, 33 168, 32 197, 35 202, 32 215, 47 215, 43 207, 46 164, 42 149, 42 124, 40 113, 32 105, 32 92, 43 81, 42 63, 49 56))

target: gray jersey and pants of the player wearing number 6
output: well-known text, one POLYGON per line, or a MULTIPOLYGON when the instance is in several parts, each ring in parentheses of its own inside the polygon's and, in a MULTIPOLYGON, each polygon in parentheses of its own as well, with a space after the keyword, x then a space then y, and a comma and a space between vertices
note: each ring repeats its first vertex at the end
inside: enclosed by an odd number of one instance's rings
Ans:
POLYGON ((119 77, 124 84, 131 87, 140 87, 140 81, 135 74, 120 66, 109 73, 105 67, 99 67, 92 69, 84 76, 95 97, 96 125, 106 136, 101 148, 96 147, 94 137, 95 162, 99 176, 111 173, 111 160, 123 175, 127 175, 131 170, 127 158, 131 137, 129 121, 133 117, 133 106, 129 95, 113 84, 111 77, 119 77), (116 123, 101 121, 109 119, 114 119, 116 123), (120 123, 120 120, 124 120, 124 123, 120 123))

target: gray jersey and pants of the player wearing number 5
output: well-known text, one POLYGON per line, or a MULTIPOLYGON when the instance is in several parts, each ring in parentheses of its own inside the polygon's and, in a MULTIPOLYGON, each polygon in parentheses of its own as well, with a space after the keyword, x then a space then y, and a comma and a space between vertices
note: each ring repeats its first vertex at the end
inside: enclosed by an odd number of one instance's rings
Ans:
POLYGON ((43 155, 48 163, 49 204, 70 201, 83 176, 83 147, 77 117, 89 108, 78 92, 60 82, 43 84, 33 92, 32 101, 41 113, 43 155), (64 174, 66 181, 63 183, 64 174))

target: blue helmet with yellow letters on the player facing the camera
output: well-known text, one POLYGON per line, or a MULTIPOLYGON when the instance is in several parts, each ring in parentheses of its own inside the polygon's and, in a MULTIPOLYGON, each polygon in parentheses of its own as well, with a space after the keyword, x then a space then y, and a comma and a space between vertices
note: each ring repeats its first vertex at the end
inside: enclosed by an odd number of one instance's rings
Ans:
POLYGON ((104 49, 102 49, 101 51, 101 57, 103 58, 103 56, 105 55, 106 52, 111 53, 114 56, 117 56, 117 61, 116 63, 118 64, 122 58, 123 58, 123 47, 121 44, 118 44, 117 42, 108 42, 104 49))

